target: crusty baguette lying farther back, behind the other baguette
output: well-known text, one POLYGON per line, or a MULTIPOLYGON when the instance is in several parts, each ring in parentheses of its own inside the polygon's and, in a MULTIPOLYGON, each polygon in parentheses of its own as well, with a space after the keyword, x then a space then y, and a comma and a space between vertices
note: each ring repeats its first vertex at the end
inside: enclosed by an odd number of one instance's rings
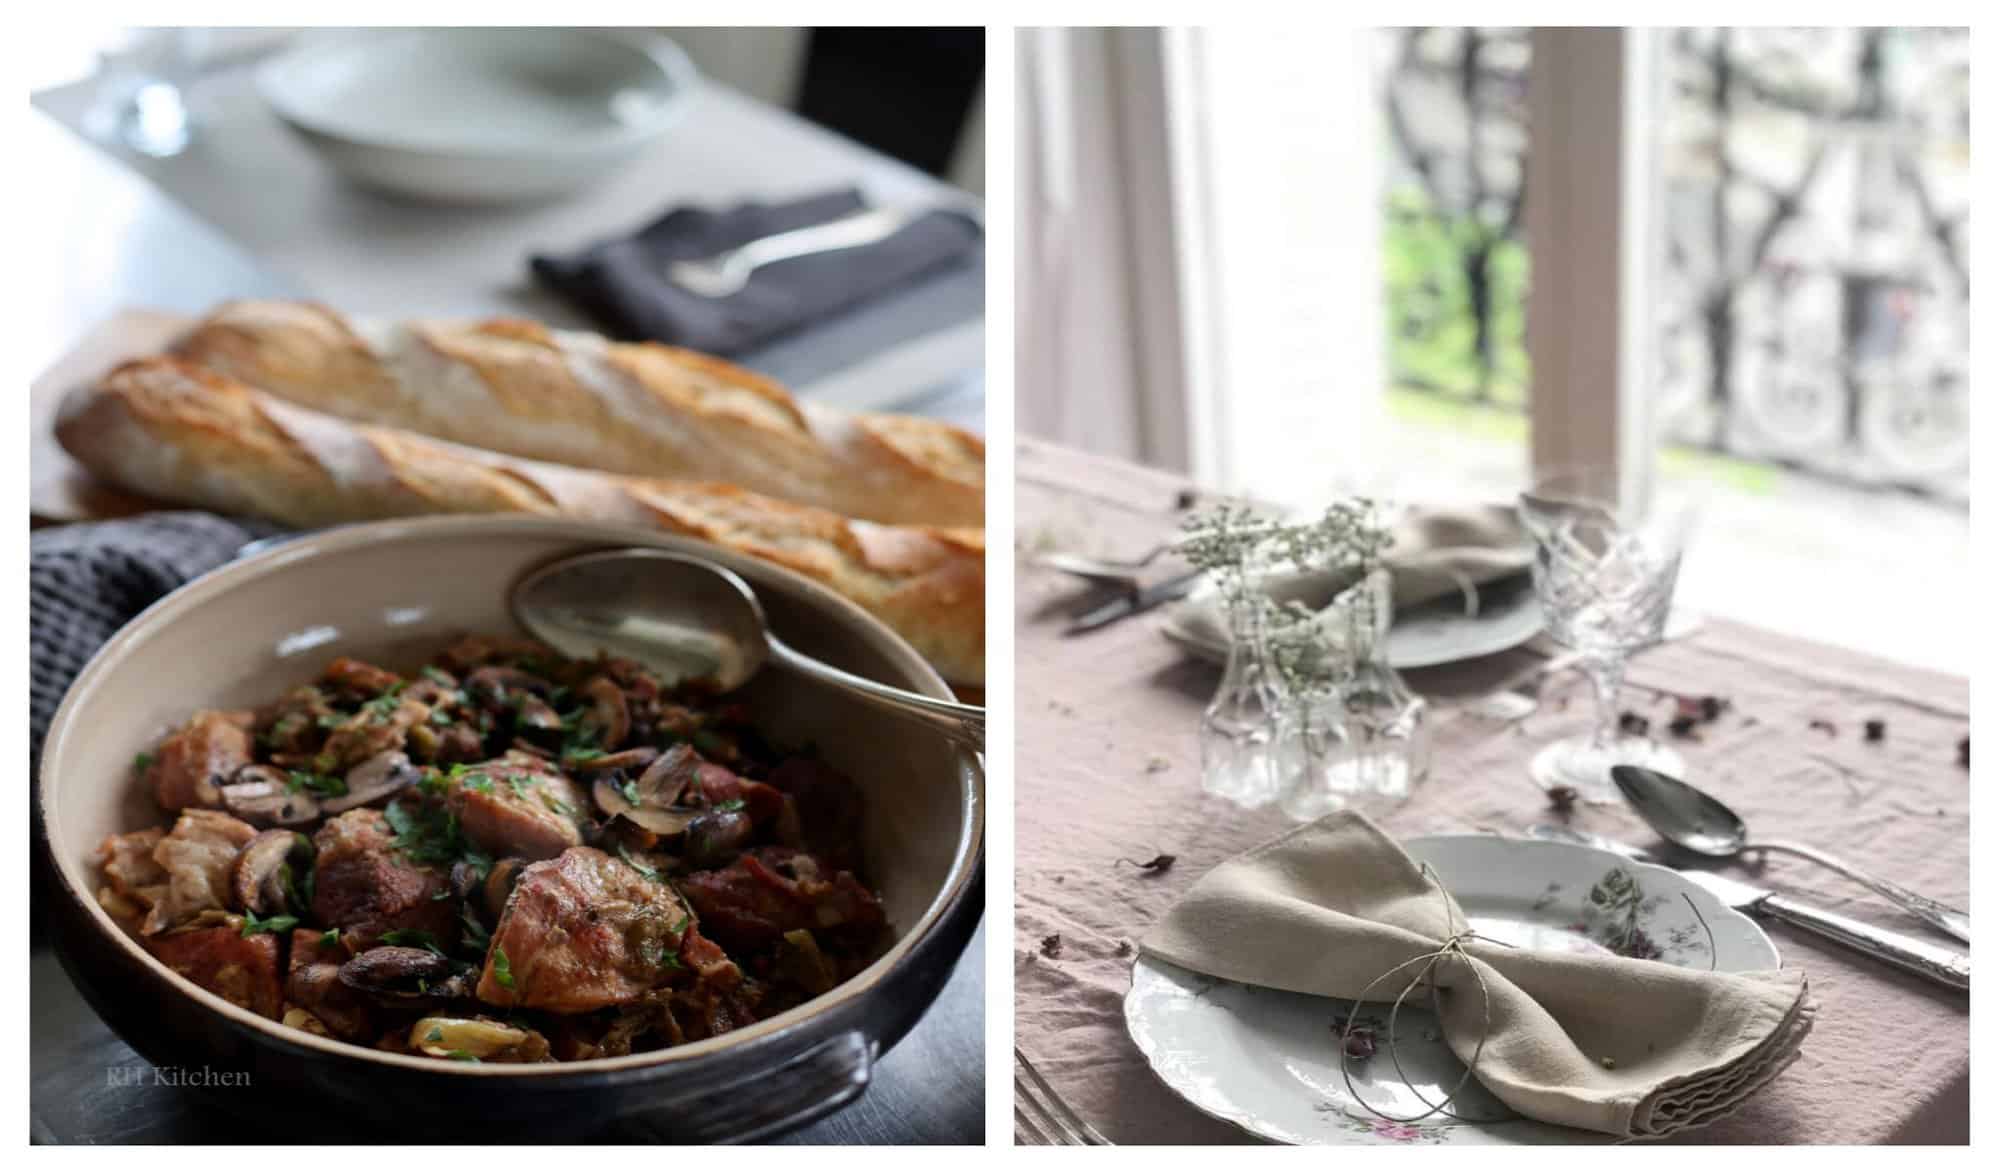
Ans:
POLYGON ((174 348, 360 424, 624 476, 722 480, 882 524, 984 524, 986 446, 914 416, 800 404, 692 350, 538 322, 382 322, 228 302, 174 348))

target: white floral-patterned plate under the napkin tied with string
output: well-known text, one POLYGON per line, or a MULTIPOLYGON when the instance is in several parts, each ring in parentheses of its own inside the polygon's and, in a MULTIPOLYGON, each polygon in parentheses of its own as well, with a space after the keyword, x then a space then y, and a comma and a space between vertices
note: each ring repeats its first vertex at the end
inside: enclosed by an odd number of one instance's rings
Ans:
MULTIPOLYGON (((1714 968, 1750 972, 1778 968, 1778 950, 1744 914, 1672 870, 1632 862, 1604 850, 1566 842, 1454 834, 1404 842, 1412 858, 1428 862, 1452 892, 1472 928, 1524 948, 1574 948, 1612 952, 1622 944, 1616 926, 1598 912, 1590 892, 1612 872, 1624 872, 1640 890, 1638 950, 1658 960, 1710 968, 1708 932, 1714 932, 1714 968), (1682 900, 1694 900, 1708 932, 1682 900), (1616 934, 1614 934, 1616 932, 1616 934)), ((1152 1062, 1154 1074, 1196 1108, 1242 1130, 1282 1144, 1592 1144, 1608 1136, 1534 1120, 1498 1124, 1432 1116, 1418 1124, 1392 1124, 1354 1102, 1340 1076, 1336 1018, 1360 1012, 1376 1030, 1376 1058, 1350 1064, 1362 1098, 1394 1116, 1416 1116, 1422 1102, 1396 1078, 1388 1062, 1388 1004, 1316 998, 1236 984, 1140 956, 1126 994, 1126 1028, 1152 1062)), ((1396 1018, 1402 1068, 1430 1102, 1440 1102, 1464 1066, 1436 1038, 1428 1008, 1404 1002, 1396 1018)), ((1452 1108, 1476 1118, 1510 1114, 1474 1082, 1452 1108)))

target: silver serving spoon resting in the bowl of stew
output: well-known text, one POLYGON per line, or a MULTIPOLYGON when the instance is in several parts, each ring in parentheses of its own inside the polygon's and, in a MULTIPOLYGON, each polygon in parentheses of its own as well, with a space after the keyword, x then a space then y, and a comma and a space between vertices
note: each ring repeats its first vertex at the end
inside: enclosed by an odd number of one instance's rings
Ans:
POLYGON ((530 634, 568 656, 608 652, 668 684, 710 680, 732 692, 774 660, 856 700, 922 720, 984 752, 986 710, 864 680, 792 650, 764 624, 756 592, 734 572, 668 550, 604 550, 532 570, 508 598, 530 634))

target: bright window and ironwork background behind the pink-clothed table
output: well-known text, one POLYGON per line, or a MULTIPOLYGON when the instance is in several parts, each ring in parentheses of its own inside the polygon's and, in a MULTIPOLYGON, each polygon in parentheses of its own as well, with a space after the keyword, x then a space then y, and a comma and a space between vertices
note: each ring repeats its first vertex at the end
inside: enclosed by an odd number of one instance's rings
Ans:
POLYGON ((1606 462, 1706 498, 1684 602, 1970 668, 1966 30, 1018 50, 1024 434, 1282 502, 1606 462))

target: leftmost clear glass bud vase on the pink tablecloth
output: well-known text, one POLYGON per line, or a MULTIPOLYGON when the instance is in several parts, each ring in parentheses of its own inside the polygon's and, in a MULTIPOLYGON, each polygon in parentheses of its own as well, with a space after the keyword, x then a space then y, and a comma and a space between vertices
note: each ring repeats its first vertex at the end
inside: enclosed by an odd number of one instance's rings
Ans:
POLYGON ((1262 598, 1232 592, 1228 606, 1230 656, 1222 686, 1202 710, 1202 792, 1240 806, 1278 798, 1272 760, 1278 744, 1276 692, 1264 648, 1262 598))

